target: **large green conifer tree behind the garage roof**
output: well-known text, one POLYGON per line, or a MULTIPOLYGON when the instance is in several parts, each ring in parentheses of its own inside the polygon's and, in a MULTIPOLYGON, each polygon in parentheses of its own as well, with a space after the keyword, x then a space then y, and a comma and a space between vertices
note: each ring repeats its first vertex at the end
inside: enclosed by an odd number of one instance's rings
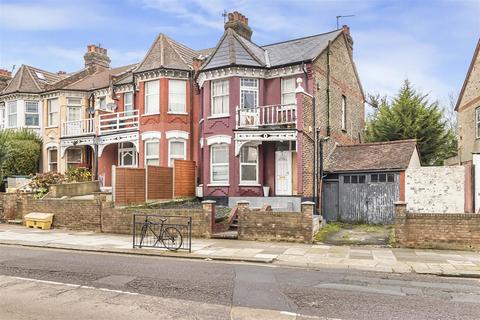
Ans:
POLYGON ((457 150, 455 133, 438 106, 428 95, 417 92, 405 80, 399 93, 389 102, 370 96, 375 112, 367 121, 369 142, 417 139, 422 163, 442 165, 457 150))

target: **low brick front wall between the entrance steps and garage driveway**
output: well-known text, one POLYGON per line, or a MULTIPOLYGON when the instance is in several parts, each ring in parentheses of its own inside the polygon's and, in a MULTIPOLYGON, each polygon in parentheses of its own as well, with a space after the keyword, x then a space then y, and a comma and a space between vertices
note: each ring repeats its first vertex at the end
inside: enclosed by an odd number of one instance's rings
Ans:
POLYGON ((239 202, 238 239, 313 242, 313 202, 302 203, 302 212, 251 210, 239 202))

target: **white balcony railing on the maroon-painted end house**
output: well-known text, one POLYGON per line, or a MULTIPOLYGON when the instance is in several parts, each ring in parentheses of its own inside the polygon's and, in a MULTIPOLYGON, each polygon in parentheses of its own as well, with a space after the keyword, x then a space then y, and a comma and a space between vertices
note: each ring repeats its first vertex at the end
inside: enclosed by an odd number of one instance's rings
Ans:
POLYGON ((296 104, 239 108, 236 112, 237 128, 293 125, 297 123, 296 104))

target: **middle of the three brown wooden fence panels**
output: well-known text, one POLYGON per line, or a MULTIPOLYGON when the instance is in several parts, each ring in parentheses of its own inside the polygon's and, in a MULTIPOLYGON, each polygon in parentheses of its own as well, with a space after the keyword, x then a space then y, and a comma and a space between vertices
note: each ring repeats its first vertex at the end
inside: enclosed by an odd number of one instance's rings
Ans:
POLYGON ((147 199, 173 198, 173 168, 147 167, 147 199))

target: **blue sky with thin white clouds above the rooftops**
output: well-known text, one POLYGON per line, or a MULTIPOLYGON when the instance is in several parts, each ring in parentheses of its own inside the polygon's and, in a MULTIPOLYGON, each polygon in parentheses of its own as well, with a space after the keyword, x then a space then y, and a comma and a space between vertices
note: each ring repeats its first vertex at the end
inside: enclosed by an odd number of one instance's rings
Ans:
POLYGON ((480 37, 480 0, 0 0, 0 68, 56 72, 83 67, 90 43, 112 66, 141 61, 162 32, 193 48, 214 47, 222 13, 249 19, 269 44, 348 24, 366 93, 392 96, 408 78, 430 99, 458 94, 480 37))

